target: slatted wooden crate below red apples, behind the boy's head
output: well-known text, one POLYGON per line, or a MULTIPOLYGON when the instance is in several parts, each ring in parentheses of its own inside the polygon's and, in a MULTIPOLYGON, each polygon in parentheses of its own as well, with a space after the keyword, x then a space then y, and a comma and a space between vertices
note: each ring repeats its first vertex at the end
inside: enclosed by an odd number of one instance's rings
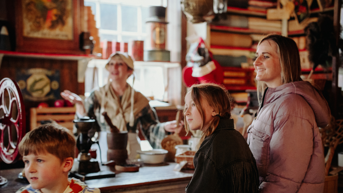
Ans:
POLYGON ((75 117, 75 107, 46 107, 30 109, 30 130, 41 125, 40 121, 54 120, 58 124, 73 130, 73 119, 75 117))

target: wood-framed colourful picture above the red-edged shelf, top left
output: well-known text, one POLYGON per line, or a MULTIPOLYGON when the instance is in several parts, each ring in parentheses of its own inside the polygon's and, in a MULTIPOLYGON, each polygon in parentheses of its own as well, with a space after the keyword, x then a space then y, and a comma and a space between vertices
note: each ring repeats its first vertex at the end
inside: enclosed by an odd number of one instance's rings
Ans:
POLYGON ((16 0, 16 51, 82 54, 83 0, 16 0))

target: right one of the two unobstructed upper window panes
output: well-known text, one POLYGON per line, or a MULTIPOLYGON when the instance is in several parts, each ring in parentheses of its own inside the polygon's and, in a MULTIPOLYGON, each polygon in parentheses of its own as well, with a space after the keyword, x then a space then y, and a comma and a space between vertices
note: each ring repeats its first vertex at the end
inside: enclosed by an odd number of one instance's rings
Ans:
POLYGON ((122 30, 137 32, 137 7, 121 6, 122 30))

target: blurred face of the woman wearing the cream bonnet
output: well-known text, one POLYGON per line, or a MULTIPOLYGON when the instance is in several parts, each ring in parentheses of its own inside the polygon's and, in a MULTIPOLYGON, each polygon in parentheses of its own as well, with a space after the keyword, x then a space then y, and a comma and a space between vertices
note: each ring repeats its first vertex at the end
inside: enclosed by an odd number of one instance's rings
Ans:
POLYGON ((125 80, 132 74, 133 70, 119 57, 115 56, 108 62, 107 70, 110 79, 114 81, 125 80))

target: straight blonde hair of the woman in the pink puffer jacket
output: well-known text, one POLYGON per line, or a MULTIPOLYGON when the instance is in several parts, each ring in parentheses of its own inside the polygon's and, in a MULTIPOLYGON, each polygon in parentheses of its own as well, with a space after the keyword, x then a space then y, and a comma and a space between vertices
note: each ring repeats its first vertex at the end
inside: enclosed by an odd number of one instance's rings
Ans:
MULTIPOLYGON (((300 56, 295 41, 282 35, 269 34, 260 40, 257 47, 265 40, 272 40, 277 46, 277 56, 281 64, 282 84, 301 81, 300 56)), ((258 96, 263 93, 265 88, 267 88, 267 84, 264 81, 257 81, 258 96)))

